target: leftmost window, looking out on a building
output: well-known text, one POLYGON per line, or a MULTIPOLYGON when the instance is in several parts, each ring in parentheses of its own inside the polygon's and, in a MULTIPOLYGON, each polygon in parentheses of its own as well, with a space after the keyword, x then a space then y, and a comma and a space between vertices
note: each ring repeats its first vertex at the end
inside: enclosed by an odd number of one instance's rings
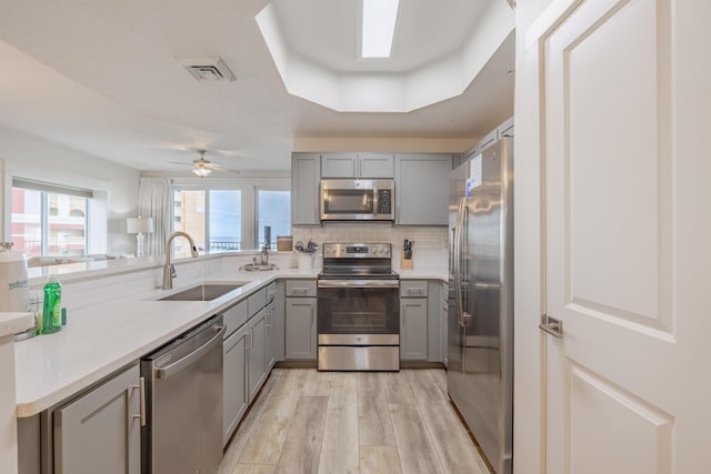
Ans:
POLYGON ((28 256, 87 254, 91 191, 12 180, 11 238, 28 256))

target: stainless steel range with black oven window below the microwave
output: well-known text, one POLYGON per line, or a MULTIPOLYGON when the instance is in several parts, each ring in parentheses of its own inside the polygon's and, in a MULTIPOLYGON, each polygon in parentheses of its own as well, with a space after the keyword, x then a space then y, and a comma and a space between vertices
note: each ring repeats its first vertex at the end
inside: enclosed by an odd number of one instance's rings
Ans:
POLYGON ((400 370, 400 278, 389 243, 324 243, 320 371, 400 370))

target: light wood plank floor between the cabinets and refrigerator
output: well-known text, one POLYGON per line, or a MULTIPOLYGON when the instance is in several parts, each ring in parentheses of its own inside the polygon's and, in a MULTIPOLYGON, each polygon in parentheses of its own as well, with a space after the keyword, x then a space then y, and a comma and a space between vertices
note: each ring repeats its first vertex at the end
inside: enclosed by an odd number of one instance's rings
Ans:
POLYGON ((219 474, 487 474, 443 370, 274 369, 219 474))

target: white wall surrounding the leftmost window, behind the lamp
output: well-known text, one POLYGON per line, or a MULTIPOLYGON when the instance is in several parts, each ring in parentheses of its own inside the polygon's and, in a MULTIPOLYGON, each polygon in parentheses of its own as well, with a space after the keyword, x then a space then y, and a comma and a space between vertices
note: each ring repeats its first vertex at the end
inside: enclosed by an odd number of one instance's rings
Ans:
POLYGON ((0 225, 4 231, 0 240, 9 239, 12 178, 21 177, 106 194, 108 233, 90 236, 90 252, 136 251, 136 238, 126 233, 126 218, 137 215, 140 171, 3 127, 0 127, 0 161, 4 160, 6 168, 0 182, 4 198, 4 203, 0 200, 4 223, 4 230, 0 225))

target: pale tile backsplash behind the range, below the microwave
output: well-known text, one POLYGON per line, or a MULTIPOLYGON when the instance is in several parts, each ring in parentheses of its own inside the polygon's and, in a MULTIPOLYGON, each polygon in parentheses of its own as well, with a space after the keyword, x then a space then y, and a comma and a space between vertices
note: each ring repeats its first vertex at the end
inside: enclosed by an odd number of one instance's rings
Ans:
POLYGON ((321 266, 323 242, 388 242, 392 244, 392 265, 400 269, 400 251, 405 239, 414 241, 412 260, 415 268, 447 268, 449 235, 447 226, 393 226, 385 222, 328 222, 321 228, 293 226, 293 244, 309 240, 319 244, 314 265, 321 266))

